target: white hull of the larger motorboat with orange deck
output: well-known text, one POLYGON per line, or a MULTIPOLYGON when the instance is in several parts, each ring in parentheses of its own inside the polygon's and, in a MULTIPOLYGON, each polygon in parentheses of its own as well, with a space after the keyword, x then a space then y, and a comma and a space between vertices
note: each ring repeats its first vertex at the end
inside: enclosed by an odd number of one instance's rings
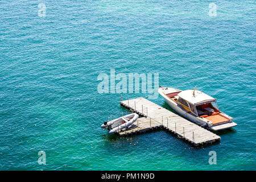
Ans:
MULTIPOLYGON (((181 91, 181 90, 174 89, 174 88, 167 88, 167 89, 169 89, 170 90, 169 92, 171 92, 171 93, 172 92, 179 92, 179 91, 181 91)), ((213 126, 212 122, 208 121, 207 119, 201 118, 201 117, 197 117, 196 115, 191 114, 188 111, 184 110, 183 107, 179 106, 176 102, 171 100, 171 98, 167 97, 166 94, 164 93, 164 90, 162 88, 159 88, 158 92, 164 98, 166 103, 173 110, 175 110, 178 114, 182 115, 184 118, 187 118, 189 121, 192 121, 192 122, 196 123, 197 125, 207 126, 207 128, 209 130, 214 130, 214 131, 229 129, 230 127, 237 126, 237 124, 232 122, 232 121, 226 122, 226 123, 221 123, 220 125, 213 126)), ((228 115, 226 115, 224 113, 222 113, 222 114, 225 115, 226 117, 229 117, 228 115)), ((229 118, 231 118, 231 117, 229 117, 229 118)))

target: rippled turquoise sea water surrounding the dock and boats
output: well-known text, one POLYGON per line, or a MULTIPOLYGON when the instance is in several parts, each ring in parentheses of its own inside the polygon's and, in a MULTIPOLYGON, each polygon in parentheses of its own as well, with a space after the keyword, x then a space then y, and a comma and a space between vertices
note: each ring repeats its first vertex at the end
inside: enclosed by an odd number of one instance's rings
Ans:
POLYGON ((214 1, 209 16, 211 2, 1 1, 0 169, 255 170, 255 1, 214 1), (159 73, 160 85, 183 90, 197 84, 238 126, 205 148, 165 131, 109 136, 102 122, 127 112, 119 94, 97 91, 110 68, 159 73))

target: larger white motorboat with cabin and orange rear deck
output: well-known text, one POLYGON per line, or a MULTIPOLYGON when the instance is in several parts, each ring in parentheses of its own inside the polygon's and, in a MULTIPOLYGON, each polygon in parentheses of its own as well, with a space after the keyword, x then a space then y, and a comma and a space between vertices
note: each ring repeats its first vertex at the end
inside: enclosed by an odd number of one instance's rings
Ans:
POLYGON ((182 91, 160 86, 158 92, 172 109, 200 126, 214 131, 237 126, 232 117, 218 109, 216 98, 196 88, 182 91))

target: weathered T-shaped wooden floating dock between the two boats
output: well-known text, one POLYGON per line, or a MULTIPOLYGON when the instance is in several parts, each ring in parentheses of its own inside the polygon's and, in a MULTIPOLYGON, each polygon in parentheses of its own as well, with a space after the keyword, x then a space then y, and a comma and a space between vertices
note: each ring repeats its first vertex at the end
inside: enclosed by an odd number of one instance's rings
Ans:
POLYGON ((172 113, 170 110, 167 110, 146 98, 140 97, 121 101, 120 104, 143 116, 133 123, 134 126, 132 129, 121 131, 119 133, 121 137, 156 129, 164 129, 170 131, 178 138, 191 143, 193 146, 212 144, 221 139, 220 136, 172 113))

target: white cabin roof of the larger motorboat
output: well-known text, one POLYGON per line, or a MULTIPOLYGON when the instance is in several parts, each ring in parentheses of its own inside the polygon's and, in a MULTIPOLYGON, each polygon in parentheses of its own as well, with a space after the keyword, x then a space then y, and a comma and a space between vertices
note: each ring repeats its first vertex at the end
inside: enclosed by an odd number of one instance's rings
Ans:
POLYGON ((195 90, 195 95, 193 95, 193 90, 184 90, 177 94, 177 96, 183 98, 184 100, 190 102, 193 105, 200 105, 204 102, 216 101, 216 98, 210 97, 199 90, 195 90))

